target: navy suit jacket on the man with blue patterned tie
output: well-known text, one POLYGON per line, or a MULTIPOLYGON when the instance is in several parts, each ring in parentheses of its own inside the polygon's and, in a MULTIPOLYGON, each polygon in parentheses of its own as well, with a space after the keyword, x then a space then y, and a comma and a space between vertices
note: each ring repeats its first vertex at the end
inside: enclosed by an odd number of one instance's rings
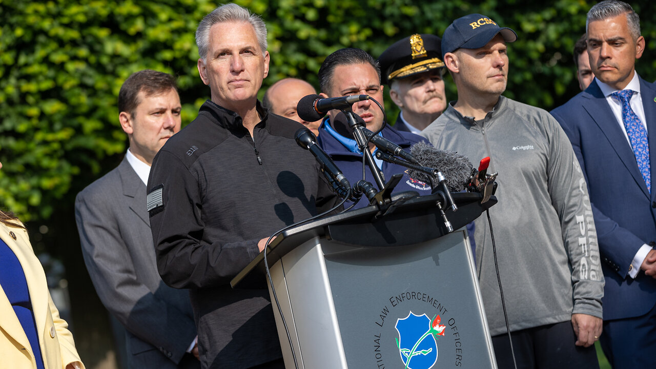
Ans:
MULTIPOLYGON (((656 85, 640 79, 647 120, 651 178, 656 178, 656 85)), ((628 269, 643 244, 656 245, 656 188, 647 190, 633 150, 596 79, 551 112, 572 143, 588 184, 605 276, 604 319, 646 314, 656 304, 656 280, 628 269)))

